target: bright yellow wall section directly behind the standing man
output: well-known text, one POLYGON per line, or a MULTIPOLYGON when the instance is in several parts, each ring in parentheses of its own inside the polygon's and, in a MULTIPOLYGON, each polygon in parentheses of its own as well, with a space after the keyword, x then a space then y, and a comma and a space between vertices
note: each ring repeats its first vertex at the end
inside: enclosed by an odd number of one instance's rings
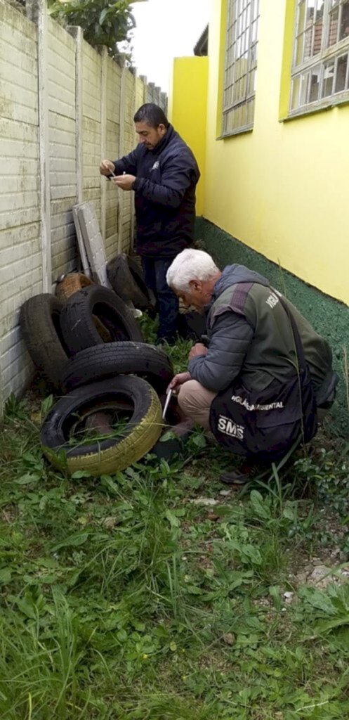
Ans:
POLYGON ((201 172, 196 214, 204 212, 208 58, 176 58, 168 109, 169 119, 193 150, 201 172))

